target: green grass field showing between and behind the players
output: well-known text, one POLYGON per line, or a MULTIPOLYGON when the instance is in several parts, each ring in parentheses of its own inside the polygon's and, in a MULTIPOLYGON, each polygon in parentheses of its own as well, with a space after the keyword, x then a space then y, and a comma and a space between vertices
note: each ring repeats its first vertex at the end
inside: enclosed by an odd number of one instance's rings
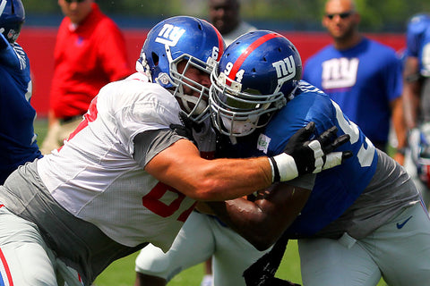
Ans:
MULTIPOLYGON (((35 131, 38 134, 39 146, 43 142, 47 133, 47 121, 37 120, 35 122, 35 131)), ((117 260, 99 275, 94 283, 95 286, 133 286, 134 283, 134 259, 137 256, 133 254, 117 260)), ((176 275, 168 286, 199 286, 203 277, 203 265, 195 265, 176 275)), ((300 260, 297 251, 297 242, 291 240, 288 242, 287 250, 282 259, 280 269, 276 274, 277 277, 288 279, 291 282, 302 283, 300 274, 300 260)), ((387 285, 383 280, 378 286, 387 285)), ((217 285, 229 286, 229 285, 217 285)))

